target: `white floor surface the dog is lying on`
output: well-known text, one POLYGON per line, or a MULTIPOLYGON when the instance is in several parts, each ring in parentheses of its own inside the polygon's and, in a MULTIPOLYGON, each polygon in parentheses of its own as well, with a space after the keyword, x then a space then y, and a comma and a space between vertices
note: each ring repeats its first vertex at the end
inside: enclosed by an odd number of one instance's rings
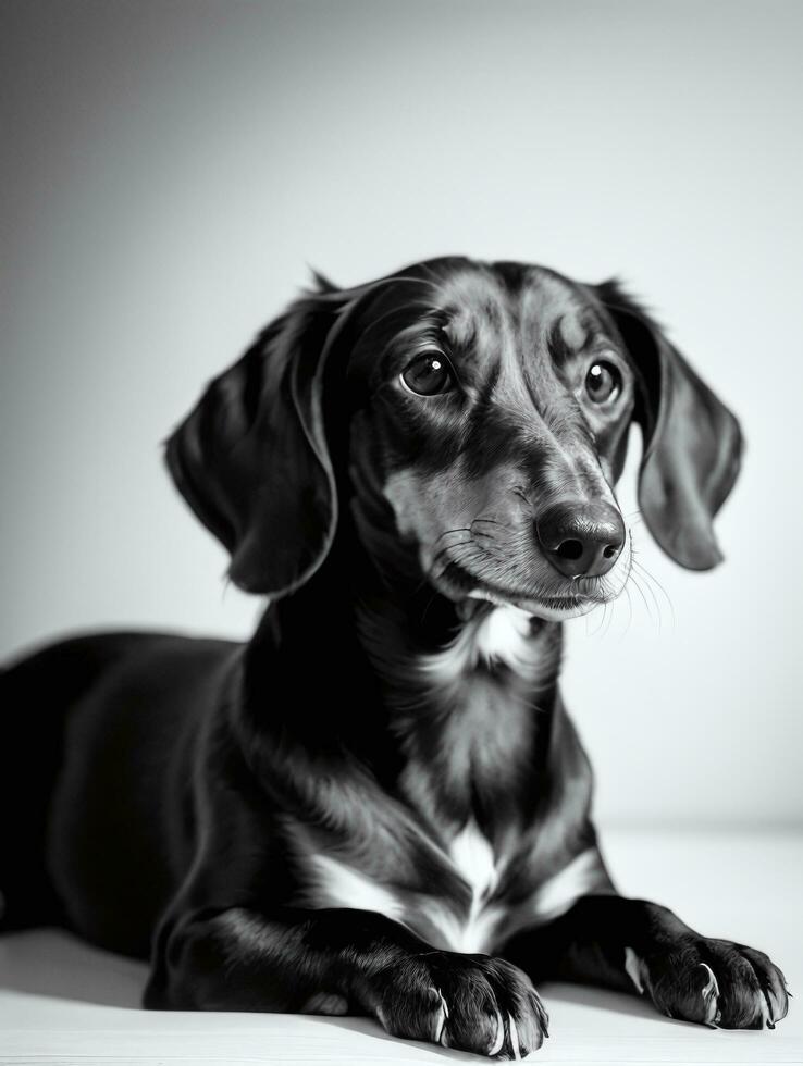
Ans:
MULTIPOLYGON (((766 951, 800 999, 775 1031, 725 1032, 669 1021, 633 997, 544 986, 552 1036, 532 1061, 803 1063, 803 836, 611 833, 606 844, 622 892, 766 951)), ((0 938, 0 1063, 486 1062, 393 1040, 358 1018, 140 1011, 145 972, 60 932, 0 938)))

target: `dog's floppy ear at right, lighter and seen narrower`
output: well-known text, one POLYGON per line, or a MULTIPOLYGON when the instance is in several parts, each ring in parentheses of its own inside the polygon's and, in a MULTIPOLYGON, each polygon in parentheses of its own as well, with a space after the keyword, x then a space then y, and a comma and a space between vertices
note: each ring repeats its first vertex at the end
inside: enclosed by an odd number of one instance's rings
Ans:
POLYGON ((668 556, 690 570, 722 561, 714 516, 739 473, 742 436, 727 407, 616 282, 595 286, 640 380, 639 504, 668 556))

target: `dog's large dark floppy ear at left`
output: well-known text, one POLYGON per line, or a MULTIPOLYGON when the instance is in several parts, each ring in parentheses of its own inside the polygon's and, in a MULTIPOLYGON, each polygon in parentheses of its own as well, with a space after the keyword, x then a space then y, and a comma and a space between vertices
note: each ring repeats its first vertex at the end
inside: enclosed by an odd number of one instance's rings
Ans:
POLYGON ((322 377, 356 290, 316 277, 207 387, 166 442, 170 473, 200 521, 228 549, 228 574, 250 593, 304 584, 337 523, 323 429, 322 377))

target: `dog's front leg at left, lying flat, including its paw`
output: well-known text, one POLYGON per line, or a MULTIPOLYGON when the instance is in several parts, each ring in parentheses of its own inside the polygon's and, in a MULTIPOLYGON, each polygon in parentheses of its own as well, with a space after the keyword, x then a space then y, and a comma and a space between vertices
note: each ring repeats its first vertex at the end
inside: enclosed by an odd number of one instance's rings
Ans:
POLYGON ((157 938, 145 1005, 369 1014, 394 1036, 503 1057, 539 1048, 546 1032, 535 990, 510 963, 437 951, 368 910, 174 918, 157 938))

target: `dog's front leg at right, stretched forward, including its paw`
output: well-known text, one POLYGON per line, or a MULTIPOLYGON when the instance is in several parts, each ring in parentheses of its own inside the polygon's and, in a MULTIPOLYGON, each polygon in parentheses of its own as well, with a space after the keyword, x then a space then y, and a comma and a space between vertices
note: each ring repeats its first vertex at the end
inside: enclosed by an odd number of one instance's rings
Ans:
POLYGON ((761 1029, 787 1014, 783 974, 763 952, 701 937, 644 900, 583 896, 547 926, 514 938, 503 954, 536 979, 648 996, 670 1018, 761 1029))

